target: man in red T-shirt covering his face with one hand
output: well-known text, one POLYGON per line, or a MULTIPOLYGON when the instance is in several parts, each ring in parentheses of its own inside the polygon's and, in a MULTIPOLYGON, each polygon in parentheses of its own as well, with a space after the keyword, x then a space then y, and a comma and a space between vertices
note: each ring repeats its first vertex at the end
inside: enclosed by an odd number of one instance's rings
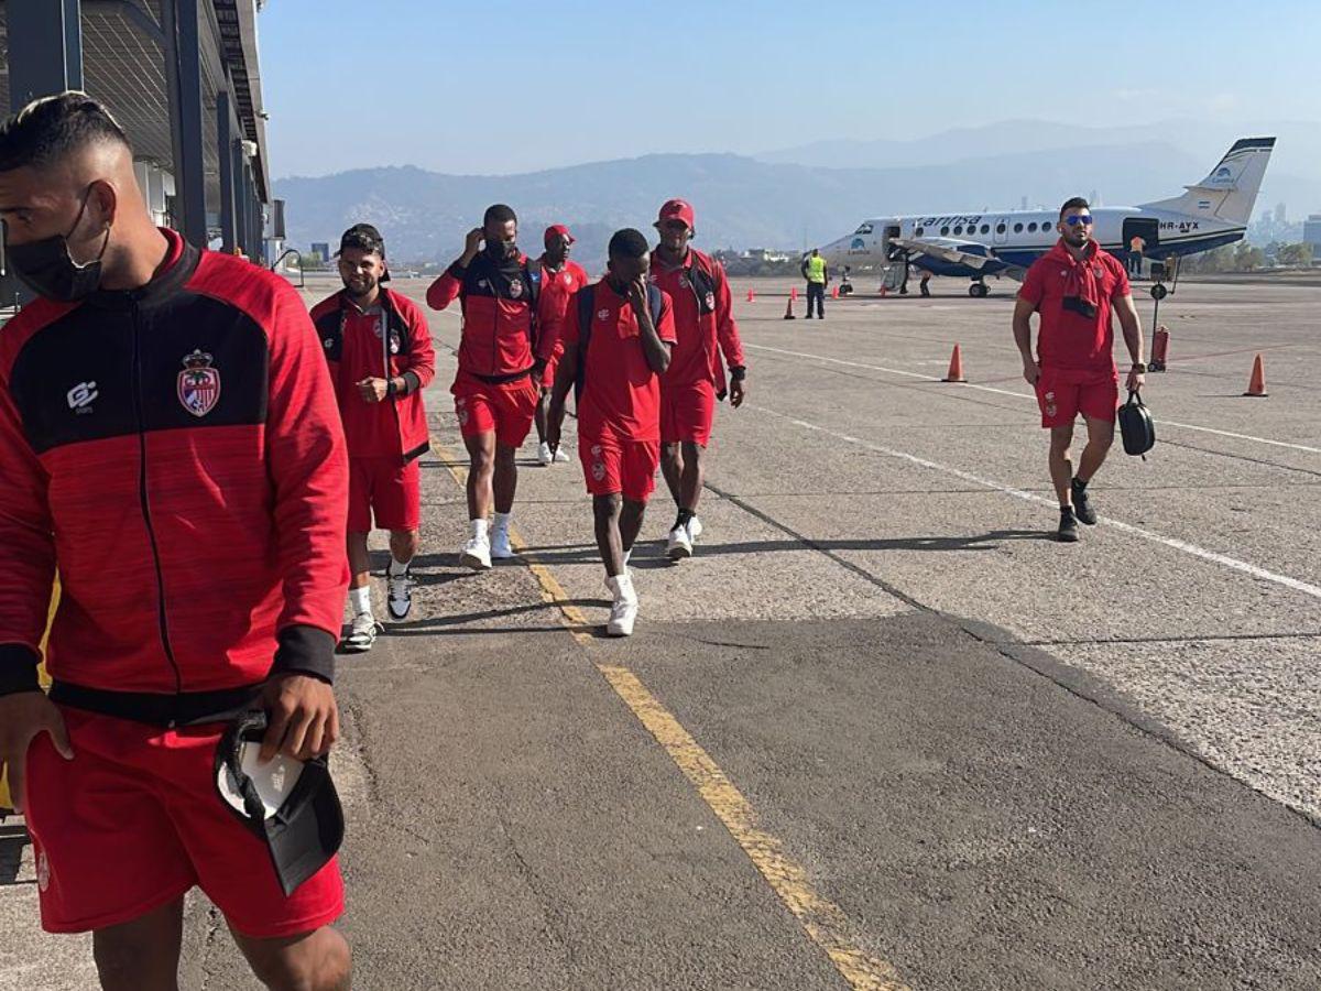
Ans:
POLYGON ((577 391, 579 460, 592 494, 596 544, 613 596, 606 633, 627 637, 638 616, 627 559, 642 529, 660 460, 660 375, 675 344, 670 297, 647 281, 647 239, 610 238, 608 272, 564 314, 564 354, 547 423, 557 449, 564 400, 577 391))

